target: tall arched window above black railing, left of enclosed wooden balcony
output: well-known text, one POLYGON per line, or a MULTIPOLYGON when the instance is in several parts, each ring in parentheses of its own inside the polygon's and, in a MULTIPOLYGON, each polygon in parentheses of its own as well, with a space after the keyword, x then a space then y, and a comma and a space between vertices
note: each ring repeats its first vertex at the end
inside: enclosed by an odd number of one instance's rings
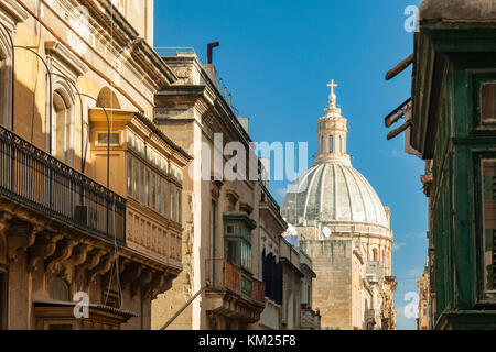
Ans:
POLYGON ((53 148, 55 157, 74 165, 74 97, 65 82, 60 82, 53 92, 52 123, 54 125, 53 148))

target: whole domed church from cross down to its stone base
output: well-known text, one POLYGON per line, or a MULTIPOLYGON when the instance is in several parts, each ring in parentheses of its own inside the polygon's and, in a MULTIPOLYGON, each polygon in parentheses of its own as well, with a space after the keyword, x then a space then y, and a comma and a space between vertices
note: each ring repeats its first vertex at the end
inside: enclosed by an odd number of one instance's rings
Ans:
POLYGON ((390 210, 346 153, 347 123, 334 81, 319 120, 315 162, 281 207, 316 274, 313 304, 323 329, 393 329, 390 210))

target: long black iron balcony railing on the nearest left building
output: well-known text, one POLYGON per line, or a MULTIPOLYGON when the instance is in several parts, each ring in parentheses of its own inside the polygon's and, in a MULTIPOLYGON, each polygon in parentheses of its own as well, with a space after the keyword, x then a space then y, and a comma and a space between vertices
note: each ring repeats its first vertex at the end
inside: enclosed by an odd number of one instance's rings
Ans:
POLYGON ((126 199, 2 127, 0 195, 82 231, 126 243, 126 199))

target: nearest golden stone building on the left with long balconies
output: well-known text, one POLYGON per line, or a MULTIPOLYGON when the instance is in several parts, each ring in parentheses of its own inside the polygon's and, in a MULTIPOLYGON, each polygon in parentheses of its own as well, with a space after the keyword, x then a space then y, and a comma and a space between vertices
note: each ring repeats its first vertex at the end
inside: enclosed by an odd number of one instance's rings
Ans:
POLYGON ((1 329, 150 329, 182 270, 191 156, 152 122, 177 77, 139 3, 0 2, 1 329))

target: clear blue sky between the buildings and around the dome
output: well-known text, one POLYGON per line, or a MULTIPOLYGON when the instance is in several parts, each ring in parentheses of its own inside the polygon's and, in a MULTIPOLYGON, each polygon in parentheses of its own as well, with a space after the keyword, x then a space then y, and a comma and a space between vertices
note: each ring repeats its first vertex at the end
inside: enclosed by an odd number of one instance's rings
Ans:
MULTIPOLYGON (((406 293, 427 256, 424 164, 403 153, 402 136, 386 140, 384 117, 410 96, 411 69, 391 81, 385 74, 412 53, 403 23, 420 0, 233 1, 157 0, 155 46, 192 46, 202 63, 206 44, 220 42, 214 63, 254 141, 309 142, 335 79, 337 103, 348 119, 353 165, 392 211, 393 275, 398 328, 414 329, 402 315, 406 293)), ((282 201, 284 183, 271 191, 282 201)))

